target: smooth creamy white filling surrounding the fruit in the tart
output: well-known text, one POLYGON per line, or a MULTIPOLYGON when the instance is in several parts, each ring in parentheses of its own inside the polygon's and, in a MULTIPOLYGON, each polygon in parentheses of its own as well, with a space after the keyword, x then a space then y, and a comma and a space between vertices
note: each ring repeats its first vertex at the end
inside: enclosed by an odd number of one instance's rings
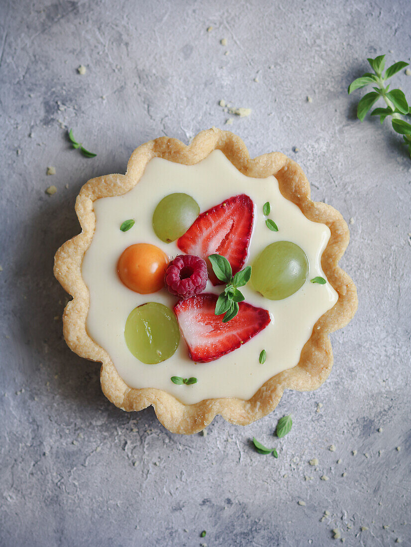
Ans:
MULTIPOLYGON (((274 176, 247 177, 220 150, 192 166, 154 158, 132 190, 123 196, 95 201, 94 212, 96 230, 82 265, 83 278, 90 291, 86 328, 90 337, 108 352, 118 374, 130 387, 163 389, 185 404, 218 397, 250 399, 271 376, 299 362, 315 322, 338 299, 329 283, 310 283, 316 276, 325 277, 321 255, 331 235, 328 227, 308 220, 294 203, 286 200, 274 176), (168 244, 160 241, 152 224, 159 201, 175 192, 192 196, 201 212, 228 197, 247 194, 254 203, 254 229, 246 264, 252 265, 270 243, 292 241, 307 255, 309 275, 303 287, 284 300, 265 299, 250 283, 241 288, 246 302, 269 311, 271 322, 237 350, 210 363, 195 364, 181 337, 172 357, 163 363, 147 365, 126 346, 126 319, 136 306, 145 302, 160 302, 172 309, 177 300, 166 289, 153 294, 138 294, 128 289, 117 275, 117 262, 124 249, 134 243, 152 243, 170 257, 182 254, 176 241, 168 244), (263 205, 266 201, 271 204, 270 218, 275 220, 277 232, 265 225, 263 205), (121 223, 129 218, 136 220, 135 226, 129 231, 120 231, 121 223), (260 364, 258 357, 263 349, 267 360, 260 364), (171 376, 194 376, 198 383, 175 385, 171 376)), ((221 290, 221 286, 213 287, 208 282, 205 292, 219 294, 221 290)))

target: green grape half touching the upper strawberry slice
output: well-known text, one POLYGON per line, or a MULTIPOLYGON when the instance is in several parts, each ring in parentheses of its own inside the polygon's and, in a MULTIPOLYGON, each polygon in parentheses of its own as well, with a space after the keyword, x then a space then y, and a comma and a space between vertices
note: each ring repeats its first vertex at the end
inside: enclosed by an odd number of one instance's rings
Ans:
POLYGON ((165 243, 181 237, 200 214, 200 207, 187 194, 170 194, 163 197, 153 214, 155 235, 165 243))

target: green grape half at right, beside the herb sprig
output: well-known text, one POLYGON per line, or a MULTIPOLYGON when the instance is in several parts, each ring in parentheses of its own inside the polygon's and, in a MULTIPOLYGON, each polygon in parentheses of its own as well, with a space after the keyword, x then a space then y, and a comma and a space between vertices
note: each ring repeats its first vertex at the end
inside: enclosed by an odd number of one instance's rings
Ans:
POLYGON ((308 276, 308 258, 291 241, 277 241, 265 247, 252 266, 254 289, 269 300, 282 300, 296 293, 308 276))

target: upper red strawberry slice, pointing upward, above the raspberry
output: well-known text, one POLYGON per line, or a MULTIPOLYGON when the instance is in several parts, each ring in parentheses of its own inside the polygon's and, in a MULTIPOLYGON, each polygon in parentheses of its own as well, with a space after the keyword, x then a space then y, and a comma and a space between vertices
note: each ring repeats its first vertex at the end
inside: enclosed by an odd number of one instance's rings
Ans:
MULTIPOLYGON (((194 224, 177 241, 184 253, 194 254, 206 260, 210 254, 221 254, 227 258, 233 275, 241 270, 247 257, 253 228, 254 206, 245 194, 230 197, 205 213, 201 213, 194 224)), ((209 278, 213 285, 221 285, 209 267, 209 278)))

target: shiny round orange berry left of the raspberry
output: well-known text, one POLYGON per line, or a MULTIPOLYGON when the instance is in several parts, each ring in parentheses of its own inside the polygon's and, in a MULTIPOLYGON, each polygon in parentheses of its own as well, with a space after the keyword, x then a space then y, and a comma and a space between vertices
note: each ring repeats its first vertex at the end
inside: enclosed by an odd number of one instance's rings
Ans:
POLYGON ((136 243, 121 253, 117 273, 125 286, 136 293, 155 293, 164 286, 164 272, 169 261, 155 245, 136 243))

